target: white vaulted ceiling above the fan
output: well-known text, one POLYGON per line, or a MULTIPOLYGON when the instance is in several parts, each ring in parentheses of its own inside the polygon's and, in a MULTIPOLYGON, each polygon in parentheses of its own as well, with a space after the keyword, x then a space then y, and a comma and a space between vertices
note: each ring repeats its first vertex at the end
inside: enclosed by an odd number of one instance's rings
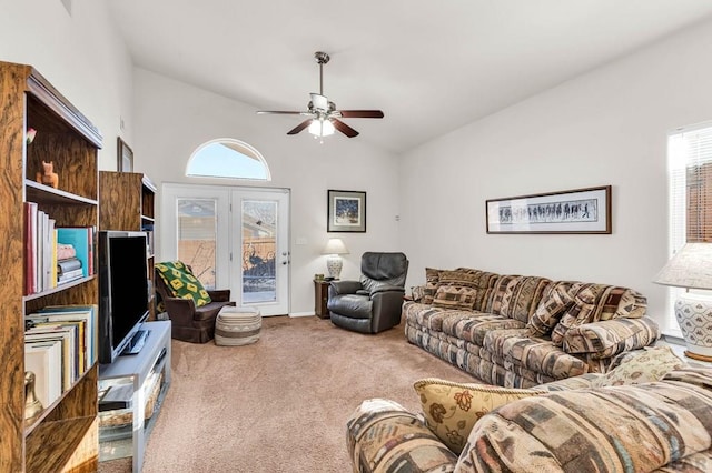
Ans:
MULTIPOLYGON (((702 0, 116 0, 136 66, 255 110, 318 92, 364 140, 403 152, 712 16, 702 0)), ((622 84, 634 87, 634 84, 622 84)), ((260 117, 275 138, 300 117, 260 117)), ((347 140, 343 135, 335 139, 347 140)))

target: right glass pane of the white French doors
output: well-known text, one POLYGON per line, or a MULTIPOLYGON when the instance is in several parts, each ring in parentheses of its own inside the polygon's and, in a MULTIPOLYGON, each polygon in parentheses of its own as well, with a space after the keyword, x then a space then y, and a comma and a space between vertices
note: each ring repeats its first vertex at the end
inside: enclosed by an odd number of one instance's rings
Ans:
POLYGON ((274 302, 277 300, 277 202, 243 200, 241 212, 243 301, 274 302))

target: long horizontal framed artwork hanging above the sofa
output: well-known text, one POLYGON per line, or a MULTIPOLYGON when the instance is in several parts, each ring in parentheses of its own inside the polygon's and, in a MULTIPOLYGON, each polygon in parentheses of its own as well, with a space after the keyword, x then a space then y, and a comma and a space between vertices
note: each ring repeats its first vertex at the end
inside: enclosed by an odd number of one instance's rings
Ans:
POLYGON ((611 185, 486 201, 487 233, 611 234, 611 185))

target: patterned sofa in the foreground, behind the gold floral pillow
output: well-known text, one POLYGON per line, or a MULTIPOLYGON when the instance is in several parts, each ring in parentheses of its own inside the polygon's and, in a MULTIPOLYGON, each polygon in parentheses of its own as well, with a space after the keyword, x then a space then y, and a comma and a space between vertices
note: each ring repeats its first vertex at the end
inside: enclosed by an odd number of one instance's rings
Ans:
POLYGON ((448 449, 423 413, 385 399, 364 401, 346 427, 353 471, 712 471, 711 369, 681 368, 660 381, 600 388, 587 376, 537 386, 545 392, 485 413, 462 452, 448 449))

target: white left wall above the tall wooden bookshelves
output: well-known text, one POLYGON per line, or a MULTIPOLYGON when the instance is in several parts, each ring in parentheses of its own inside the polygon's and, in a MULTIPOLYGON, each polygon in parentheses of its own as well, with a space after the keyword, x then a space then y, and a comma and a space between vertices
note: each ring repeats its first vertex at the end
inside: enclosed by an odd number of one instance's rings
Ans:
POLYGON ((99 168, 116 170, 116 138, 131 139, 132 66, 106 1, 75 0, 71 16, 60 0, 2 3, 0 61, 30 64, 44 76, 101 131, 99 168))

